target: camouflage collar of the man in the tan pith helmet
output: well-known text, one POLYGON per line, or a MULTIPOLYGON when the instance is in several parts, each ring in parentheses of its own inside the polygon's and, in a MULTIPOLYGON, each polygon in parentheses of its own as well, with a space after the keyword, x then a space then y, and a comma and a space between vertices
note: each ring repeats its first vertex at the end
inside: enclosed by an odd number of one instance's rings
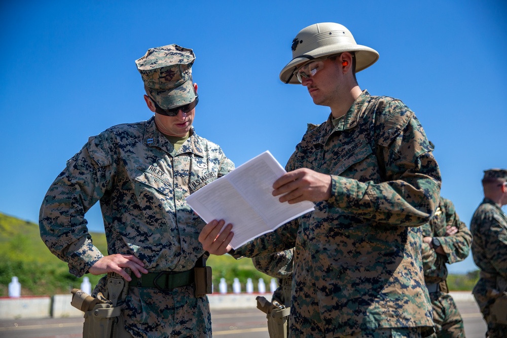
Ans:
POLYGON ((370 100, 370 98, 370 93, 365 89, 363 93, 355 99, 354 103, 352 103, 349 110, 345 113, 345 116, 336 127, 333 126, 333 116, 330 114, 328 120, 325 122, 324 128, 322 128, 319 135, 315 137, 314 143, 325 144, 328 137, 334 132, 354 128, 359 121, 361 113, 367 106, 365 103, 370 100))

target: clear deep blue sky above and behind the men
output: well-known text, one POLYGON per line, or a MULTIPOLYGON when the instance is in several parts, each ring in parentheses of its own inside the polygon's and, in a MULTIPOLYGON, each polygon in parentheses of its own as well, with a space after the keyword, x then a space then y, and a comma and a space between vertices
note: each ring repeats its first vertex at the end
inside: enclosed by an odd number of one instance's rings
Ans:
MULTIPOLYGON (((172 43, 196 54, 197 133, 237 166, 266 150, 284 165, 329 108, 278 74, 299 30, 331 21, 379 52, 359 86, 416 112, 442 196, 468 225, 483 170, 507 167, 505 17, 495 0, 2 2, 0 212, 38 222, 49 185, 89 136, 149 119, 134 60, 172 43)), ((87 218, 103 231, 98 205, 87 218)), ((450 266, 475 269, 472 257, 450 266)))

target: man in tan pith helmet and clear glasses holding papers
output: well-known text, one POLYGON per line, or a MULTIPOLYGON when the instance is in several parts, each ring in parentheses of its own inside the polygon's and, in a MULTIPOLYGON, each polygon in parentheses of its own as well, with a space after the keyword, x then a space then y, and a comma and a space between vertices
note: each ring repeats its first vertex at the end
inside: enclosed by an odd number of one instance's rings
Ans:
MULTIPOLYGON (((419 120, 399 99, 359 88, 354 73, 379 55, 343 25, 313 24, 287 45, 280 80, 301 83, 331 112, 308 128, 273 195, 315 210, 230 253, 295 248, 291 337, 432 334, 420 226, 437 209, 441 176, 419 120)), ((230 224, 214 239, 223 226, 210 222, 201 233, 210 253, 230 249, 230 224)))

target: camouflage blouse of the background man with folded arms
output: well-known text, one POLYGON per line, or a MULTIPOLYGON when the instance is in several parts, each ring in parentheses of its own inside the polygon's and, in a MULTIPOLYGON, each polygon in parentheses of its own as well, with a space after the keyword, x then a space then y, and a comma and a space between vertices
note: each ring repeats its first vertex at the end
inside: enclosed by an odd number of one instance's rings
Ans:
POLYGON ((422 226, 423 237, 436 237, 445 256, 438 254, 422 243, 422 262, 424 267, 424 280, 427 284, 439 283, 447 279, 446 263, 452 264, 465 259, 470 251, 472 233, 465 223, 459 220, 454 209, 454 204, 443 197, 437 211, 431 220, 422 226), (456 227, 458 232, 452 236, 446 236, 447 226, 456 227))

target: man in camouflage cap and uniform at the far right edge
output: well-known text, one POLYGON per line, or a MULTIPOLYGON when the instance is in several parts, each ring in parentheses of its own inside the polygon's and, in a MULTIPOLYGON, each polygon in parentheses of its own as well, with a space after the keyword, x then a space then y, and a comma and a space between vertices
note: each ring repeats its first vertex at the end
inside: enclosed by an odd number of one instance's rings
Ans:
POLYGON ((507 169, 484 171, 484 200, 470 221, 472 254, 481 270, 472 293, 488 325, 486 337, 507 337, 507 169))

